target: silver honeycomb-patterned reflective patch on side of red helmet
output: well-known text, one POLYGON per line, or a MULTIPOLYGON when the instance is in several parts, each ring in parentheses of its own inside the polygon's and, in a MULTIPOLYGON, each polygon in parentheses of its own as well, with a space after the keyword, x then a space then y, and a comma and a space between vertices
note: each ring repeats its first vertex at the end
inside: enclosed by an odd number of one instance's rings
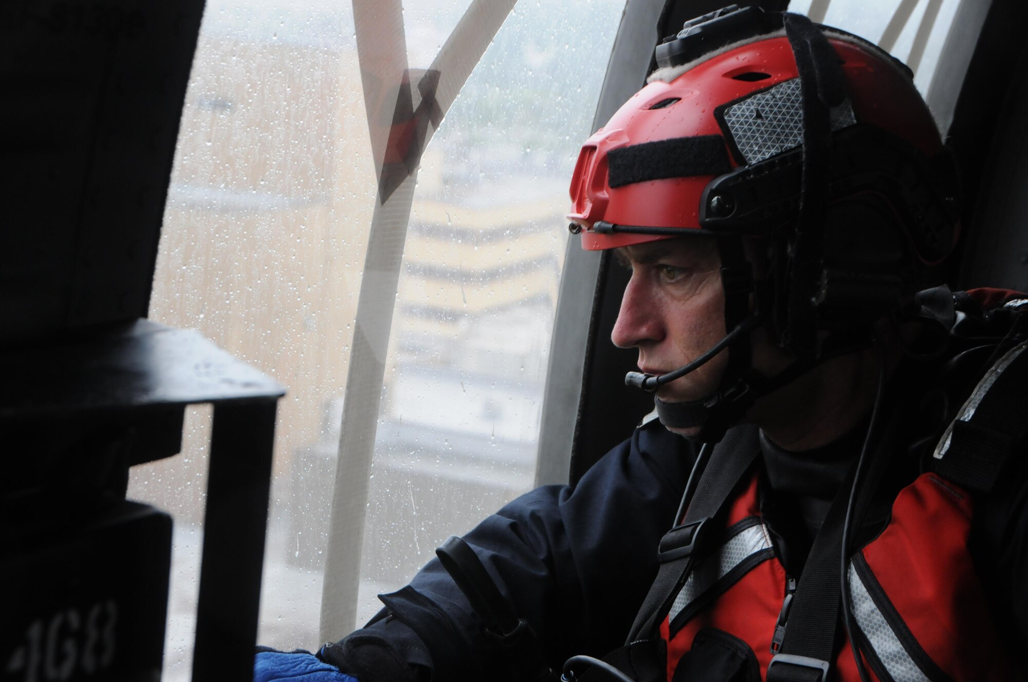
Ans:
MULTIPOLYGON (((754 164, 803 144, 803 90, 799 78, 782 81, 725 107, 722 116, 736 148, 754 164)), ((833 130, 856 123, 849 101, 829 110, 833 130)))

